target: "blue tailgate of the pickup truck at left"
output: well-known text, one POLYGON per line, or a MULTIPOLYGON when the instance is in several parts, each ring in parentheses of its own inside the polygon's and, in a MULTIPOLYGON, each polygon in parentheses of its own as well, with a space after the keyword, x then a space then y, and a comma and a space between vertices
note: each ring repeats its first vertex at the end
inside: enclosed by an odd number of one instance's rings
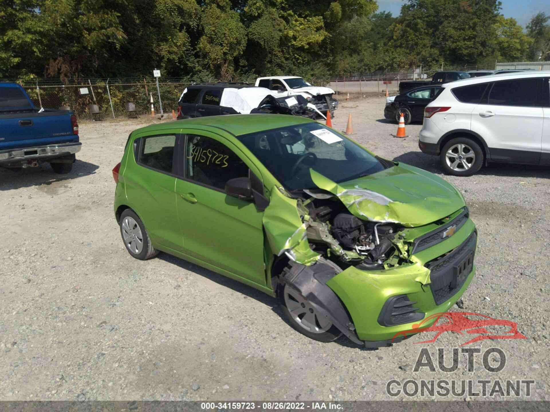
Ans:
POLYGON ((15 113, 0 110, 0 119, 0 150, 78 141, 67 110, 45 110, 42 113, 37 113, 36 109, 15 113))

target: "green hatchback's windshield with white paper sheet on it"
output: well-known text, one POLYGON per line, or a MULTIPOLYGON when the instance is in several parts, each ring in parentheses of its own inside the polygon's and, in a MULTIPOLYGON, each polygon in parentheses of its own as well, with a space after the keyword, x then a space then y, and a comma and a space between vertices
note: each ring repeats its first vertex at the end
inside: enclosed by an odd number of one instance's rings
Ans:
POLYGON ((381 162, 319 123, 281 127, 238 137, 287 190, 317 188, 310 168, 334 182, 384 169, 381 162))

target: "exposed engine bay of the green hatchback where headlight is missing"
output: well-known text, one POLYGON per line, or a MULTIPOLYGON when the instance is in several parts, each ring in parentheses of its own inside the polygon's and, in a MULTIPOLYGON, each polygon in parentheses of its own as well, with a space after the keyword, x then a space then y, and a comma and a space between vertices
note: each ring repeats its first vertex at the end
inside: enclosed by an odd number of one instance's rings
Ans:
POLYGON ((408 261, 405 227, 362 220, 349 213, 336 197, 303 202, 306 236, 315 252, 335 259, 343 268, 388 269, 408 261))

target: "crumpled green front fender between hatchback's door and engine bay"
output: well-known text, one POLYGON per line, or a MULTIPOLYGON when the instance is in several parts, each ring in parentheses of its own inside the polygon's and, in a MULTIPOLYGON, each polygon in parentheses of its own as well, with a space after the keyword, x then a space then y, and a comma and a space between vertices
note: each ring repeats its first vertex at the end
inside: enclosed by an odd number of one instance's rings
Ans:
POLYGON ((273 254, 281 256, 284 253, 290 260, 311 265, 320 254, 313 252, 307 241, 307 219, 302 219, 307 216, 307 209, 301 210, 302 215, 300 210, 297 199, 285 196, 273 186, 262 222, 273 254))

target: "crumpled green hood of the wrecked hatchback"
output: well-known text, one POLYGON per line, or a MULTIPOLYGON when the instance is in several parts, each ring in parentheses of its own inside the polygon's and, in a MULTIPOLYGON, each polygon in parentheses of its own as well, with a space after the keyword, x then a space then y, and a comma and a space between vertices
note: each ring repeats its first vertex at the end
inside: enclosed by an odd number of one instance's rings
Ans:
POLYGON ((465 206, 452 185, 430 172, 405 164, 373 175, 335 183, 311 169, 313 182, 340 199, 357 218, 427 225, 465 206))

